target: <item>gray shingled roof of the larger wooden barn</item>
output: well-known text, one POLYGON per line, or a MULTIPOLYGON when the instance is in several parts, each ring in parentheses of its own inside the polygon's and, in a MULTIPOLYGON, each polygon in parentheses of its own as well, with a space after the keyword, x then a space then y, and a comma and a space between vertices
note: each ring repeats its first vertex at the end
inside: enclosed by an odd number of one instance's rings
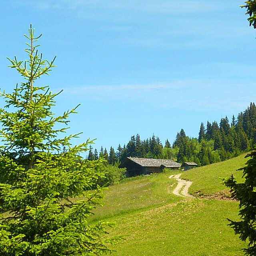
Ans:
POLYGON ((127 158, 144 167, 150 167, 150 166, 159 167, 161 165, 164 165, 166 167, 180 167, 179 163, 174 162, 170 159, 154 159, 154 158, 138 158, 138 157, 127 157, 127 158))

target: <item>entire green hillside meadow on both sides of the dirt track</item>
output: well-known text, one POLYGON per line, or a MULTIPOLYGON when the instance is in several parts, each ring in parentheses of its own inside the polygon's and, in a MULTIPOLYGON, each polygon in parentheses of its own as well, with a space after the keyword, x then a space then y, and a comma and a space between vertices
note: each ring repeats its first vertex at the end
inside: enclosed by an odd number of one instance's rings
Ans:
MULTIPOLYGON (((234 174, 242 180, 244 155, 225 162, 195 168, 182 173, 192 180, 190 193, 209 196, 226 192, 219 177, 234 174)), ((114 222, 109 236, 123 235, 112 249, 113 256, 233 256, 244 255, 246 246, 227 226, 239 220, 238 202, 203 198, 183 198, 172 194, 176 180, 167 172, 141 176, 110 186, 91 222, 114 222)))

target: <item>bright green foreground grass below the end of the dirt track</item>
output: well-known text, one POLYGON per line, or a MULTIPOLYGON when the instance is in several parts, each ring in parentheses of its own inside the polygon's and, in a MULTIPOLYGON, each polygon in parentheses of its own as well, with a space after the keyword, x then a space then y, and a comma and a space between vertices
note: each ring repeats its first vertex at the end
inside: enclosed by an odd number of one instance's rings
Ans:
POLYGON ((112 235, 126 235, 113 256, 244 255, 243 242, 227 226, 238 219, 235 202, 190 200, 116 219, 112 235))

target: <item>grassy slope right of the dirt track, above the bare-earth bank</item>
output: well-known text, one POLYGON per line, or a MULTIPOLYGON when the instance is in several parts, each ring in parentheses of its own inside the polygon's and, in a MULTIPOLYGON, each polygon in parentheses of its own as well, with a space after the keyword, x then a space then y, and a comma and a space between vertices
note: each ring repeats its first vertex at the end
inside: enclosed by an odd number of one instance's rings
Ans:
POLYGON ((190 194, 212 195, 225 193, 228 189, 222 184, 220 177, 230 177, 233 174, 238 182, 242 181, 242 171, 237 171, 245 165, 248 158, 246 154, 231 158, 224 162, 209 164, 199 168, 194 168, 182 173, 181 178, 192 180, 190 194))

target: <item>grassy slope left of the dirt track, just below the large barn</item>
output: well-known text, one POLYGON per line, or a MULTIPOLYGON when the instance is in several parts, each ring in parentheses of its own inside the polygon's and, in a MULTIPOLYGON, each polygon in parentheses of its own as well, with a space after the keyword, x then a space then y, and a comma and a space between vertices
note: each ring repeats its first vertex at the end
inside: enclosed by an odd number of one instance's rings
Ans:
POLYGON ((178 172, 138 176, 110 186, 105 192, 103 206, 97 207, 89 220, 113 218, 178 202, 180 198, 170 192, 177 182, 168 178, 170 174, 176 173, 178 172))

